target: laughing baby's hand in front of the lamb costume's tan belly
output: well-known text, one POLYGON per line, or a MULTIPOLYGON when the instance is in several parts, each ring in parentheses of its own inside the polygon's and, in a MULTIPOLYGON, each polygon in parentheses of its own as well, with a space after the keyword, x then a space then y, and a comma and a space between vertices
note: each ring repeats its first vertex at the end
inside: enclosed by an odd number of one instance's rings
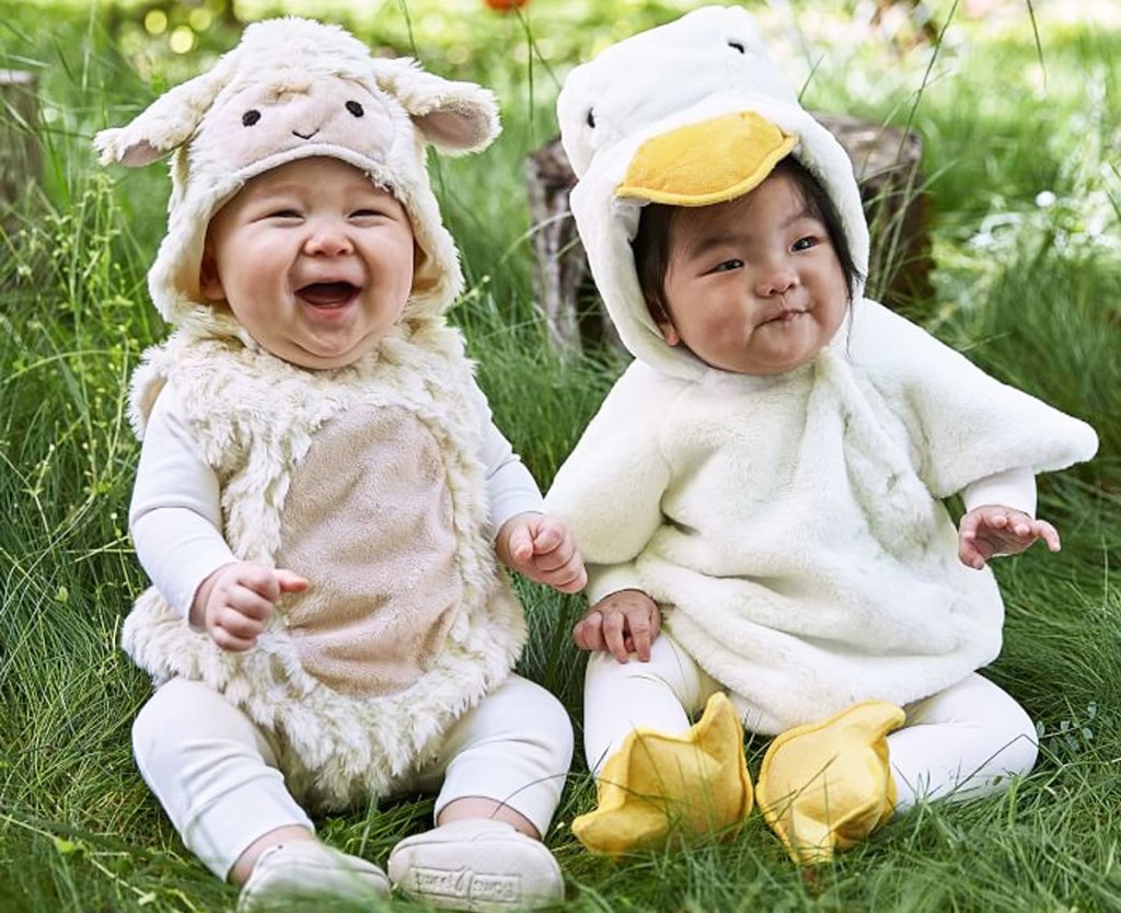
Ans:
POLYGON ((206 633, 222 649, 245 651, 265 630, 280 596, 303 592, 307 585, 293 571, 248 561, 223 564, 198 588, 192 618, 202 616, 206 633))

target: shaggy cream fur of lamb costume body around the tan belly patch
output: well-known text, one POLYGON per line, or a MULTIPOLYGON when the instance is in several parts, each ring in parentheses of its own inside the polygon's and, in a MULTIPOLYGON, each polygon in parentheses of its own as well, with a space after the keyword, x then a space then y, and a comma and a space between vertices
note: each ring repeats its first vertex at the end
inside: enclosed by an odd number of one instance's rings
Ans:
MULTIPOLYGON (((442 454, 456 541, 448 573, 461 598, 438 640, 416 657, 423 674, 407 686, 382 694, 363 690, 362 682, 354 683, 356 692, 327 686, 305 667, 306 656, 286 627, 285 603, 257 648, 244 653, 222 651, 189 628, 155 588, 124 622, 124 651, 157 684, 175 675, 203 681, 278 734, 288 789, 314 808, 343 808, 407 782, 447 726, 507 676, 525 640, 521 608, 483 532, 471 382, 458 333, 436 326, 408 333, 401 328, 373 356, 335 371, 306 371, 184 328, 149 350, 138 372, 136 419, 142 427, 155 396, 179 397, 201 455, 222 482, 223 534, 244 561, 276 565, 297 468, 331 423, 362 409, 407 413, 442 454)), ((400 531, 369 524, 351 535, 370 542, 376 553, 379 542, 399 538, 400 531)), ((315 572, 330 575, 332 569, 315 572)), ((331 618, 334 609, 323 607, 319 617, 331 618)))

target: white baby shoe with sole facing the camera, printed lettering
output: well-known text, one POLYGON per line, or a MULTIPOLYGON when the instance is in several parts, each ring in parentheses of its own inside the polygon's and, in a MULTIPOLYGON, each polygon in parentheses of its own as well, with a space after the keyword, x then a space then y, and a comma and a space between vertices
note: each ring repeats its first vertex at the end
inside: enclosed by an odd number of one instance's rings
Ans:
POLYGON ((388 868, 406 894, 444 910, 537 910, 564 901, 553 854, 502 821, 453 821, 408 837, 388 868))

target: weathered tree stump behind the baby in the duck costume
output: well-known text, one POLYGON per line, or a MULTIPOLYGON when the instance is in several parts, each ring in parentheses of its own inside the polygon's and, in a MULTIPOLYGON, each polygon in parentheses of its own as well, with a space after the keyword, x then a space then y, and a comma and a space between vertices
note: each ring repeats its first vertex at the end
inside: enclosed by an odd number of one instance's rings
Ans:
MULTIPOLYGON (((921 178, 923 142, 912 130, 842 114, 815 116, 853 163, 872 234, 868 289, 889 306, 932 295, 930 238, 921 178)), ((618 343, 595 292, 568 208, 576 183, 555 138, 526 163, 535 292, 552 342, 562 349, 618 343)))

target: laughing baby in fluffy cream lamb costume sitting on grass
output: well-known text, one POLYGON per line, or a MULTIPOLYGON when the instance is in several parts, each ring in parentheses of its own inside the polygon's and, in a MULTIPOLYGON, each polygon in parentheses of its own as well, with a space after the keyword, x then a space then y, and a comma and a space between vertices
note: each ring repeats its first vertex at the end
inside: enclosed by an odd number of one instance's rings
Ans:
POLYGON ((122 639, 158 685, 133 746, 240 910, 377 906, 390 880, 451 909, 563 898, 540 837, 572 729, 511 674, 495 553, 565 592, 584 571, 446 323, 463 278, 425 166, 497 132, 489 92, 291 18, 98 136, 106 162, 173 154, 149 287, 175 331, 132 385, 155 585, 122 639), (388 879, 305 811, 421 789, 438 827, 388 879))

